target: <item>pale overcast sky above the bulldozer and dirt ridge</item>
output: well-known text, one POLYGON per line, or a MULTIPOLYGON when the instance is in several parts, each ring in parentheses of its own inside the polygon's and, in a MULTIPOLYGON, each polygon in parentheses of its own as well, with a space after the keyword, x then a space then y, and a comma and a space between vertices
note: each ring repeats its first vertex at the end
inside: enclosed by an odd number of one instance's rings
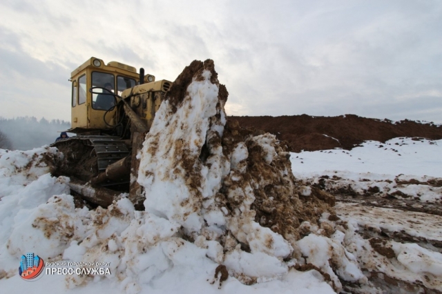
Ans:
POLYGON ((0 1, 0 116, 70 121, 90 57, 175 80, 215 61, 228 115, 442 123, 442 1, 0 1))

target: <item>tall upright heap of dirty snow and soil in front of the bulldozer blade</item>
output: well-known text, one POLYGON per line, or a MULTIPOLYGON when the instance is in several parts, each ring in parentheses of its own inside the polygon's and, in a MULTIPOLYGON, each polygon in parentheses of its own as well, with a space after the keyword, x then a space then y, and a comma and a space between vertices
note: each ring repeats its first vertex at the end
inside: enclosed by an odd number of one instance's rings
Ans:
POLYGON ((332 203, 312 197, 316 211, 304 206, 285 148, 226 124, 226 100, 213 61, 194 61, 177 78, 139 155, 144 207, 242 282, 278 278, 289 270, 283 259, 296 257, 300 217, 316 224, 332 203))

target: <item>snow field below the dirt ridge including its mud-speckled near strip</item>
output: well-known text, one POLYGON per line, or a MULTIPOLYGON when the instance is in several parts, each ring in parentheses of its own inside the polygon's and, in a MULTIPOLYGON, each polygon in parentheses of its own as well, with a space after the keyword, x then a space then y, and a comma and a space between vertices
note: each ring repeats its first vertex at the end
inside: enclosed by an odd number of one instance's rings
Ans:
POLYGON ((323 184, 329 192, 344 189, 441 204, 441 146, 441 140, 416 138, 366 141, 352 150, 292 153, 291 162, 295 177, 323 184))

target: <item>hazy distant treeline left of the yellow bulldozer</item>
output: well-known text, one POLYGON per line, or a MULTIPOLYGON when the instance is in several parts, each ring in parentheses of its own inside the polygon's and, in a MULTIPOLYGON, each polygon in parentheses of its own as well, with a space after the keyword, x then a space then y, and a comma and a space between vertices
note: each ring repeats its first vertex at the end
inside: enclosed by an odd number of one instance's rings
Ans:
POLYGON ((44 117, 17 117, 4 119, 0 117, 0 133, 10 141, 10 149, 30 150, 51 144, 59 137, 60 132, 68 130, 70 122, 44 117))

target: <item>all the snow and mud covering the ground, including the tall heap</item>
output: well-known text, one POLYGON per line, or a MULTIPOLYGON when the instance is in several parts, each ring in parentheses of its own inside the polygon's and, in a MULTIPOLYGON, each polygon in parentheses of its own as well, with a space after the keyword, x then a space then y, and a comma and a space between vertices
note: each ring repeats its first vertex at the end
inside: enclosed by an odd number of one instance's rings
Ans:
POLYGON ((106 209, 76 208, 69 179, 50 175, 64 156, 56 148, 0 150, 1 288, 442 291, 441 140, 289 153, 274 135, 227 121, 227 95, 213 61, 177 78, 137 155, 145 211, 126 194, 106 209), (106 262, 111 274, 25 282, 17 269, 28 252, 106 262))

